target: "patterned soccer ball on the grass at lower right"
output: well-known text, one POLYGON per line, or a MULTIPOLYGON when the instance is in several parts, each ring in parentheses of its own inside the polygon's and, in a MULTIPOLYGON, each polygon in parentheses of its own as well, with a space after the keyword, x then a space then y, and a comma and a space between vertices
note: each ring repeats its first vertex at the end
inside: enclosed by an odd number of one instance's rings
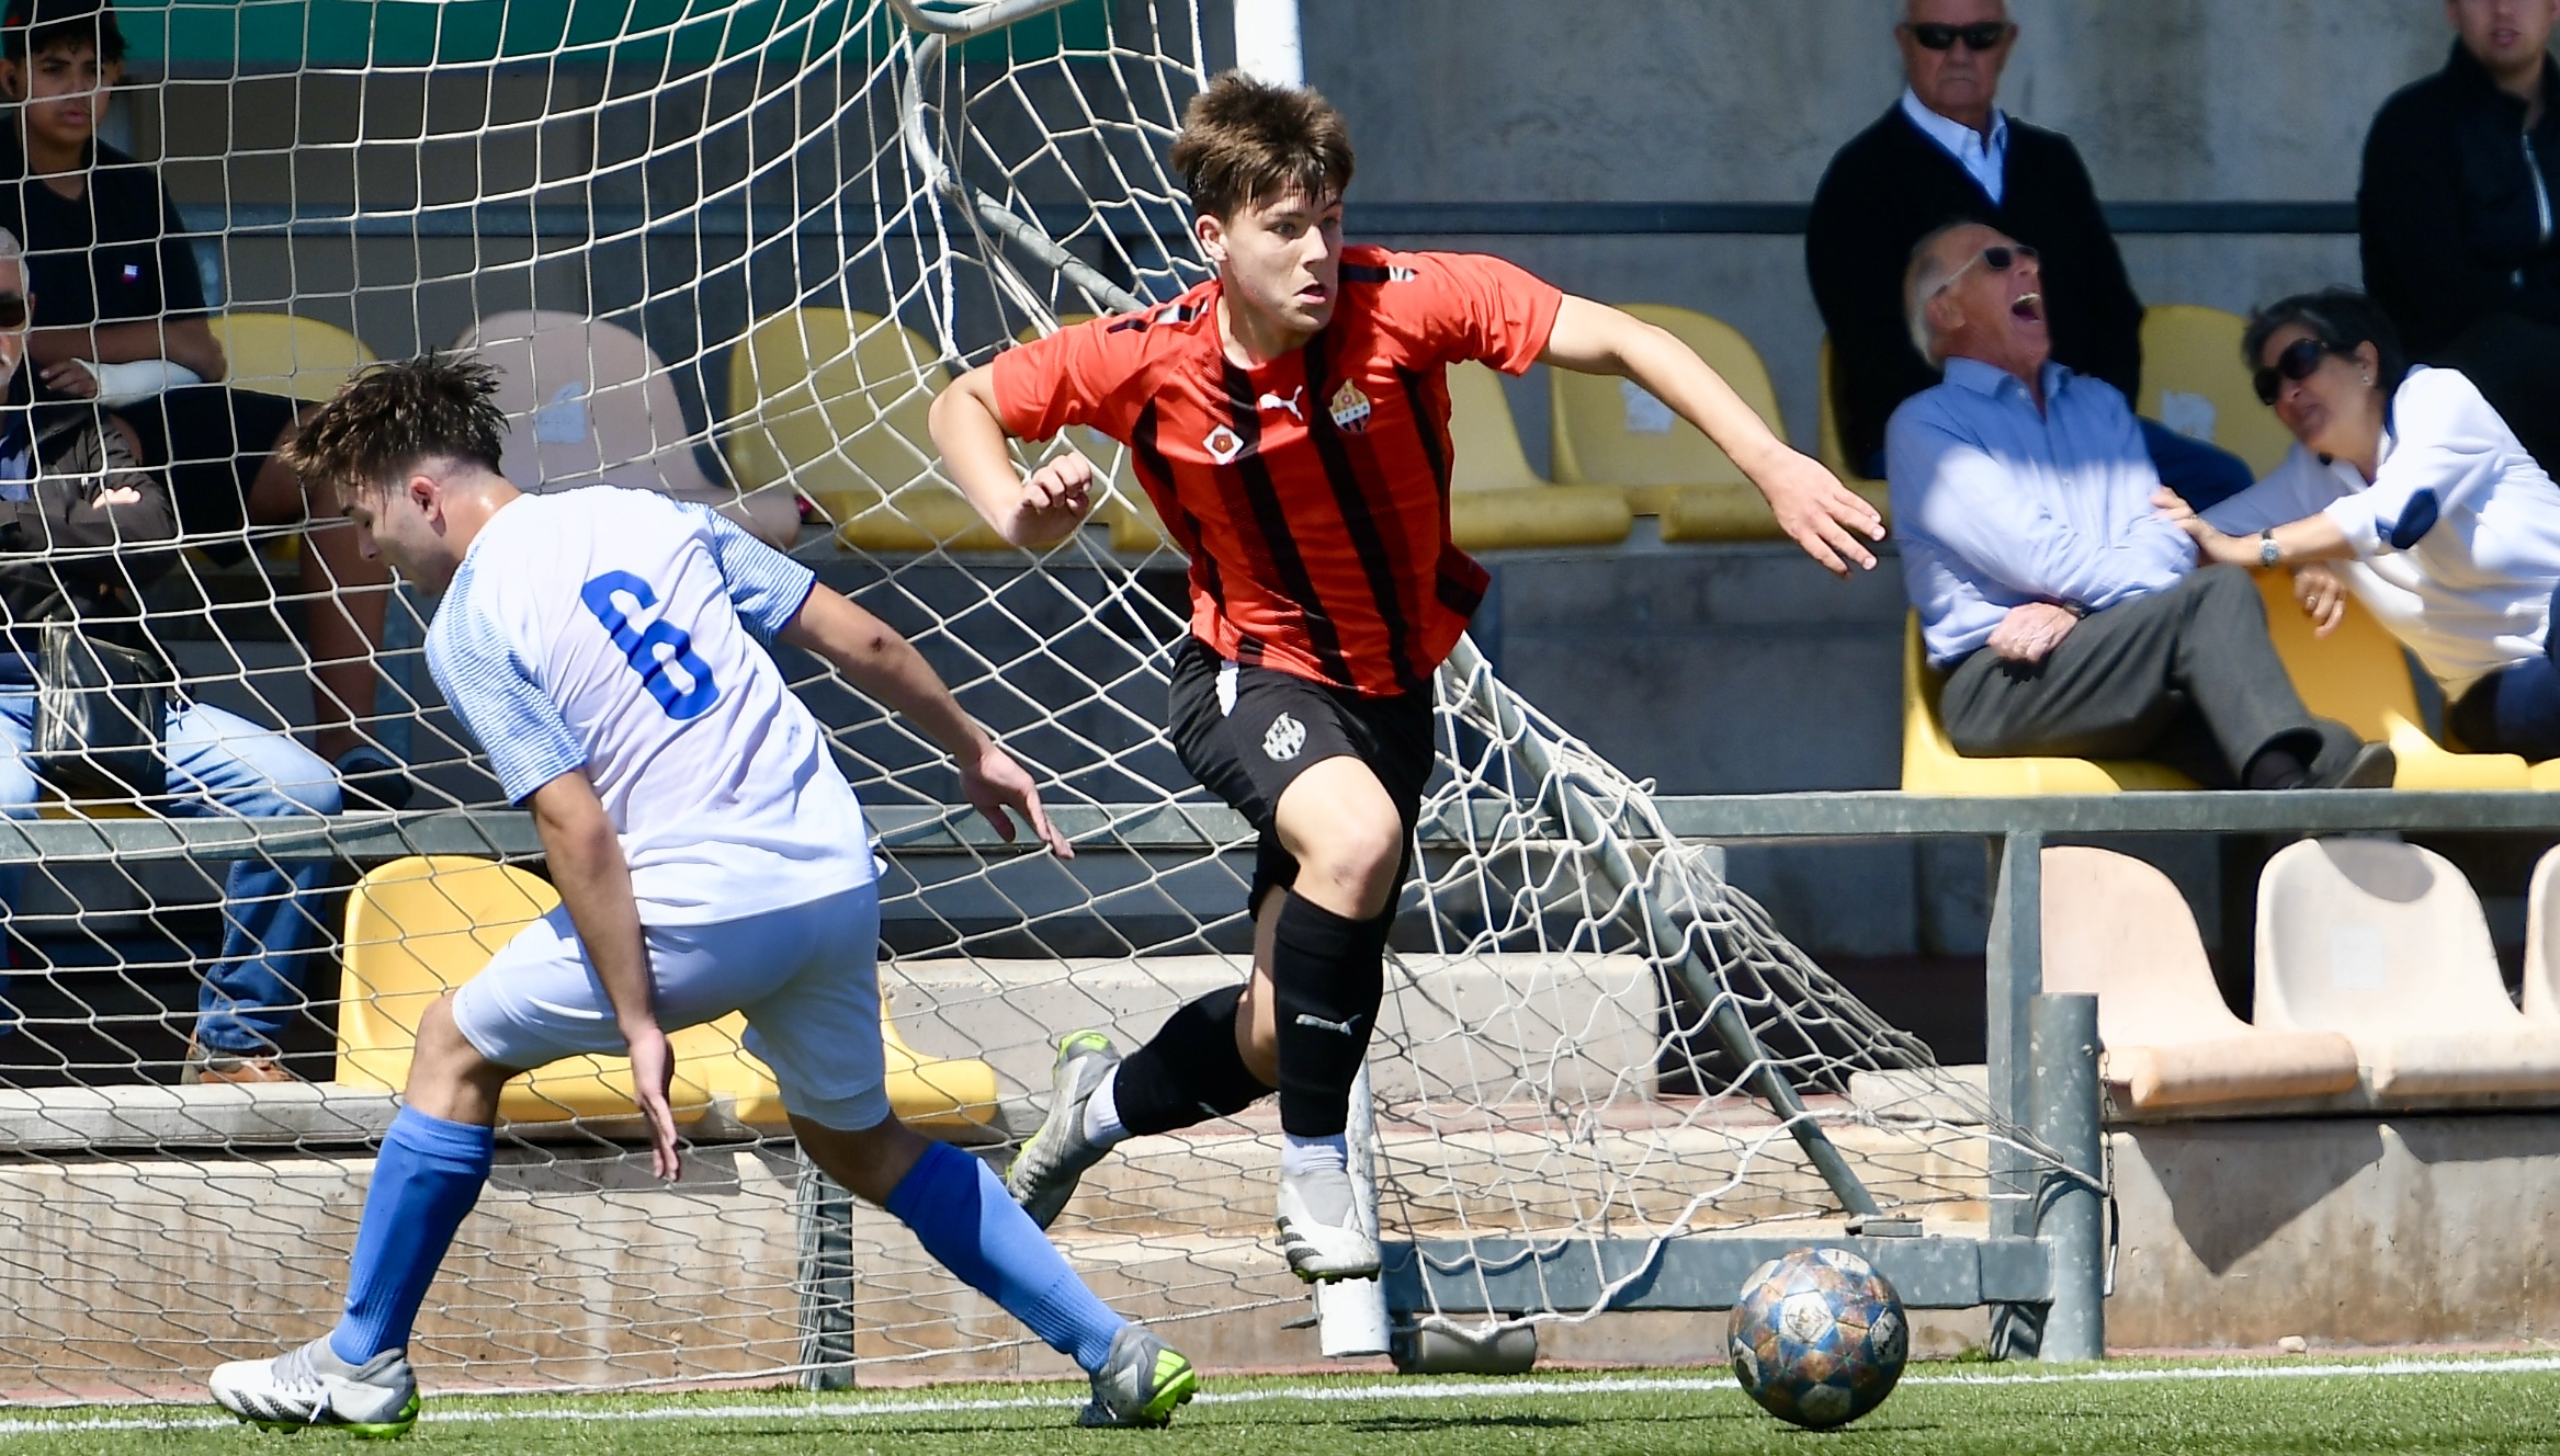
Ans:
POLYGON ((1743 1279, 1725 1349, 1751 1400, 1820 1430, 1884 1405, 1910 1356, 1910 1320, 1866 1259, 1797 1249, 1743 1279))

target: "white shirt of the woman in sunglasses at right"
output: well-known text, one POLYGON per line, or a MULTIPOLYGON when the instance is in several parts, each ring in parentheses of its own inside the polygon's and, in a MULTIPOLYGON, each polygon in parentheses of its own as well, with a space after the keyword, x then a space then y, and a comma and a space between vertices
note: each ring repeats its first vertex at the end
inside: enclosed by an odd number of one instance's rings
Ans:
POLYGON ((2371 484, 2294 445, 2276 473, 2204 519, 2258 535, 2314 514, 2355 548, 2355 560, 2335 563, 2348 589, 2447 699, 2542 655, 2560 586, 2560 486, 2460 371, 2409 371, 2371 484))

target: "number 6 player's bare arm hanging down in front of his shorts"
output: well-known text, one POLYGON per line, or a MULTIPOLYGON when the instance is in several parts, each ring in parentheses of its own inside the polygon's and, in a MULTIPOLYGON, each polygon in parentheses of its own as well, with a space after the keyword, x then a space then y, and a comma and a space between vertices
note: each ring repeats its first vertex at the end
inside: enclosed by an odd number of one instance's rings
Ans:
POLYGON ((571 768, 527 798, 532 827, 543 837, 550 883, 579 929, 586 965, 596 967, 604 998, 614 1003, 614 1026, 632 1057, 632 1100, 648 1123, 650 1162, 663 1180, 681 1172, 676 1162, 676 1111, 668 1088, 676 1057, 658 1026, 658 983, 648 970, 648 942, 640 934, 640 903, 632 898, 632 865, 622 857, 614 821, 596 798, 584 768, 571 768))

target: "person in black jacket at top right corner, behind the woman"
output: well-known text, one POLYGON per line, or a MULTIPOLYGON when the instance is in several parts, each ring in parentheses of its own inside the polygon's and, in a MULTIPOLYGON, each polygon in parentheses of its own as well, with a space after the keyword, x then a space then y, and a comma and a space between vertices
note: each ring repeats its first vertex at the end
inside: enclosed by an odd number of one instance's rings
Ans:
POLYGON ((2460 368, 2560 471, 2560 0, 2450 0, 2445 69, 2373 118, 2365 292, 2419 363, 2460 368))

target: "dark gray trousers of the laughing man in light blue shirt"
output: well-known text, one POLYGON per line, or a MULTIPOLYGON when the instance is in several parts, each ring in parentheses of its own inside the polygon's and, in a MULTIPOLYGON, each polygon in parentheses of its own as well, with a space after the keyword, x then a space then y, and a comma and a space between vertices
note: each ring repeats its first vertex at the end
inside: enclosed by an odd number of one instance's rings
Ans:
POLYGON ((2043 663, 1981 647, 1948 673, 1940 714, 1966 757, 2148 757, 2207 788, 2237 786, 2266 747, 2291 747, 2314 773, 2358 747, 2301 706, 2237 566, 2092 612, 2043 663))

